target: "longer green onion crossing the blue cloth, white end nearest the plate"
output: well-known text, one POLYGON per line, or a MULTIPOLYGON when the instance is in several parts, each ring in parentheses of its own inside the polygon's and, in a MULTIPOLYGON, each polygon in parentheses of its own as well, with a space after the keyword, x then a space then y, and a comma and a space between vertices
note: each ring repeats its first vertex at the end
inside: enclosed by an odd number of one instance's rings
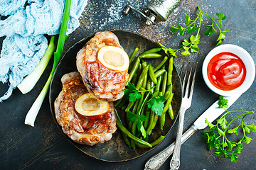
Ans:
POLYGON ((62 21, 62 24, 60 27, 60 35, 58 38, 57 50, 56 50, 56 52, 54 52, 53 69, 50 72, 50 76, 48 77, 48 80, 46 81, 45 86, 43 86, 41 93, 36 98, 36 101, 33 103, 31 109, 28 111, 28 113, 26 115, 26 119, 25 119, 26 125, 34 126, 36 116, 38 115, 38 111, 40 110, 43 100, 46 97, 46 94, 47 94, 49 86, 50 86, 50 81, 53 78, 53 72, 55 71, 55 68, 57 67, 58 62, 60 61, 60 57, 63 52, 64 42, 65 42, 65 38, 66 38, 66 32, 67 32, 67 28, 68 28, 68 18, 70 16, 70 6, 71 6, 71 0, 66 0, 64 14, 63 14, 63 21, 62 21))

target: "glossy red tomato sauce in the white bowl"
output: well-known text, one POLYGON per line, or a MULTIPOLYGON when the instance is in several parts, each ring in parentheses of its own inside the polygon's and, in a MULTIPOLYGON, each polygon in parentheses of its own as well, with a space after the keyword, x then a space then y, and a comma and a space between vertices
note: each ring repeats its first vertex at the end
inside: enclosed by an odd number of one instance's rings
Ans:
POLYGON ((210 60, 207 75, 213 86, 223 91, 230 91, 241 86, 245 80, 245 64, 237 55, 221 52, 210 60))

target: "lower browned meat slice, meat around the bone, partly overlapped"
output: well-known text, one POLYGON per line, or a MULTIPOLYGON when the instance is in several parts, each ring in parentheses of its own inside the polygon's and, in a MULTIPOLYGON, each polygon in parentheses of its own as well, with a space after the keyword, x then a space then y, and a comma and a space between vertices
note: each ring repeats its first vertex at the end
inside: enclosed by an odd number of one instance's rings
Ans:
POLYGON ((78 72, 65 74, 61 82, 63 89, 56 98, 55 117, 63 132, 73 141, 85 145, 95 145, 108 141, 117 130, 114 105, 101 115, 85 116, 75 111, 75 101, 88 93, 78 72))

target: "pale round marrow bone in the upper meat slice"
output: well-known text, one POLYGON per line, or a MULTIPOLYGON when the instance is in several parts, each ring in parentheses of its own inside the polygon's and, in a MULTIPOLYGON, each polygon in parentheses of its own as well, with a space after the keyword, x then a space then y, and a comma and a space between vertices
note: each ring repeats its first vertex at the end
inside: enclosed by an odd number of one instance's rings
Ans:
POLYGON ((129 57, 122 48, 114 46, 102 47, 98 52, 98 60, 108 69, 126 71, 129 67, 129 57))

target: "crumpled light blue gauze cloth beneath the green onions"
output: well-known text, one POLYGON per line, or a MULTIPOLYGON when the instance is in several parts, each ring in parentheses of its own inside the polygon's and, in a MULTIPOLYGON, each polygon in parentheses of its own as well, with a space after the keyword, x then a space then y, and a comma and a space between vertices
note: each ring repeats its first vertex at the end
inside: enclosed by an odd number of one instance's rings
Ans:
MULTIPOLYGON (((23 77, 36 67, 48 46, 45 34, 59 33, 65 0, 0 1, 0 37, 6 36, 0 54, 0 81, 9 89, 0 102, 11 96, 23 77)), ((80 25, 87 0, 73 0, 67 34, 80 25)))

